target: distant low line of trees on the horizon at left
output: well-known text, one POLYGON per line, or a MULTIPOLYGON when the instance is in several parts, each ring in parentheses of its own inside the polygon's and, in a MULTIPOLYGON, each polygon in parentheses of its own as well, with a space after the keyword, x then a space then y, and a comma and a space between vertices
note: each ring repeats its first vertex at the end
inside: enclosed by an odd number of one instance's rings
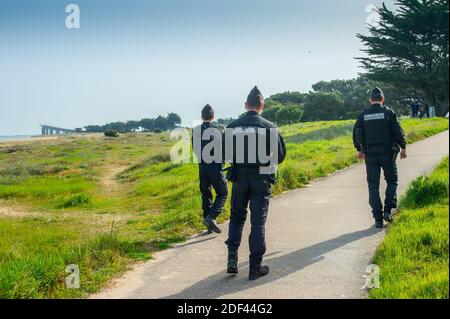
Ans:
POLYGON ((140 121, 112 122, 105 125, 87 125, 85 130, 92 133, 104 133, 114 130, 121 133, 129 132, 163 132, 173 130, 181 124, 181 118, 176 113, 169 113, 167 116, 156 118, 144 118, 140 121))

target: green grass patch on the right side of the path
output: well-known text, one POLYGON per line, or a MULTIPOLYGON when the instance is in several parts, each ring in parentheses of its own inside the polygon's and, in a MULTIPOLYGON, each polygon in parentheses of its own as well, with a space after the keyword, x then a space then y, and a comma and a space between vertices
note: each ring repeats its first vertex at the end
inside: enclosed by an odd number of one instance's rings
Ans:
POLYGON ((415 180, 378 249, 380 289, 371 298, 449 298, 449 161, 415 180))

